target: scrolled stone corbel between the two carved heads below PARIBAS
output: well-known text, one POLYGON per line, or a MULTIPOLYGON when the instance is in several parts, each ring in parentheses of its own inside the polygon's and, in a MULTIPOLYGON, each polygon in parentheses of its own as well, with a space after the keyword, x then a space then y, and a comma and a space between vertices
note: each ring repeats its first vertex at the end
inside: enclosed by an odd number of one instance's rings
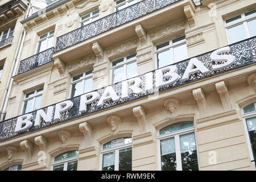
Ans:
POLYGON ((133 115, 137 118, 139 124, 139 134, 146 133, 146 113, 143 107, 134 107, 133 115))

